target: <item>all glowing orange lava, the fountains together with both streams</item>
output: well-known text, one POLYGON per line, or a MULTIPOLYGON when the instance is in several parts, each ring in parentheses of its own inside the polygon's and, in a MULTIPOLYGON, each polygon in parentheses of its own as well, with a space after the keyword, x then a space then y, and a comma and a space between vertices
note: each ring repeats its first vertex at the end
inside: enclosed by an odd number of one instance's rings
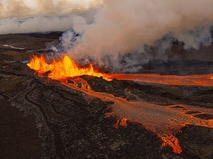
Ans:
MULTIPOLYGON (((103 77, 111 81, 118 80, 133 80, 148 83, 158 83, 165 85, 196 85, 196 86, 213 86, 213 74, 208 75, 189 75, 189 76, 174 76, 174 75, 156 75, 156 74, 106 74, 100 73, 94 68, 92 63, 88 67, 80 67, 69 56, 64 55, 61 60, 53 59, 52 63, 47 63, 44 56, 33 56, 31 62, 27 64, 31 69, 38 72, 39 76, 48 72, 48 77, 53 80, 59 80, 61 83, 71 89, 79 90, 87 94, 87 97, 100 98, 102 101, 113 101, 111 105, 113 112, 106 114, 117 115, 120 120, 114 125, 119 128, 127 126, 127 121, 141 123, 146 129, 156 133, 162 139, 162 146, 170 146, 175 153, 181 153, 181 147, 178 139, 175 137, 175 132, 180 131, 183 126, 188 124, 206 126, 213 128, 213 120, 204 120, 185 114, 186 111, 200 111, 203 113, 213 114, 213 109, 193 107, 188 105, 171 105, 163 107, 157 104, 144 102, 137 97, 137 101, 129 102, 126 99, 115 97, 111 94, 93 91, 87 81, 79 76, 89 75, 103 77), (68 79, 73 79, 74 83, 68 83, 68 79), (82 87, 79 88, 78 84, 82 87), (176 106, 184 107, 184 110, 173 109, 176 106)), ((128 94, 129 92, 124 92, 128 94)))

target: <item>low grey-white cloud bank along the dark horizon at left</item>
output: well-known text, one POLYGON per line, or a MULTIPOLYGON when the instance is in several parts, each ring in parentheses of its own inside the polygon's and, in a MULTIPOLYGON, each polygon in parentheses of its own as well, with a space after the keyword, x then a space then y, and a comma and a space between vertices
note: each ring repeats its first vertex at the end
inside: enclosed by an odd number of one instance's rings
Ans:
POLYGON ((20 20, 17 17, 0 20, 0 34, 66 31, 73 28, 73 18, 81 15, 87 23, 93 22, 96 10, 72 12, 63 16, 38 16, 20 20))

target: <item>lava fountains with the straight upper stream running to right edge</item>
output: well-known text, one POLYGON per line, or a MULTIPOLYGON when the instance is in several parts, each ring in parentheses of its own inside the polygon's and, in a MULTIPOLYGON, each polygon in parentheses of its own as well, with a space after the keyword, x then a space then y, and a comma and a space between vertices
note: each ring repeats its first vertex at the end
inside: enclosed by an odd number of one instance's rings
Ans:
POLYGON ((36 70, 39 75, 50 72, 48 77, 54 80, 65 80, 69 77, 82 75, 103 77, 105 80, 131 80, 147 83, 166 84, 166 85, 194 85, 194 86, 213 86, 213 74, 207 75, 157 75, 157 74, 106 74, 100 73, 93 64, 89 67, 80 67, 68 55, 63 59, 53 59, 52 63, 47 63, 43 55, 40 57, 33 56, 31 62, 27 64, 31 69, 36 70))

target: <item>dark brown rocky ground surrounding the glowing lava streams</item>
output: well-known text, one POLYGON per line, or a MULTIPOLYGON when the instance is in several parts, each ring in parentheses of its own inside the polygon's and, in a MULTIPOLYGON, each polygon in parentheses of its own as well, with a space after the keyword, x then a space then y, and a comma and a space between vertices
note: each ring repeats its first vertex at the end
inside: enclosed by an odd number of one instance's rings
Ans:
MULTIPOLYGON (((162 147, 160 138, 139 123, 127 122, 126 127, 114 128, 118 117, 105 118, 105 113, 112 111, 112 103, 98 98, 85 100, 85 93, 81 91, 38 77, 23 61, 29 60, 31 54, 45 53, 35 50, 45 49, 46 42, 57 42, 60 34, 0 36, 1 158, 213 158, 212 128, 183 127, 182 132, 176 133, 183 152, 175 154, 172 148, 162 147)), ((173 53, 181 47, 174 44, 173 53)), ((176 63, 174 59, 167 63, 153 60, 144 65, 141 72, 212 73, 211 58, 194 59, 198 52, 205 54, 206 50, 206 56, 210 56, 211 47, 186 52, 185 58, 177 59, 176 63), (192 59, 191 52, 196 55, 192 59)), ((187 103, 213 108, 212 87, 142 85, 116 79, 109 82, 96 77, 80 78, 86 80, 93 91, 128 101, 138 96, 163 107, 187 103), (125 90, 131 94, 125 94, 125 90)), ((213 119, 212 114, 187 113, 194 118, 213 119)))

